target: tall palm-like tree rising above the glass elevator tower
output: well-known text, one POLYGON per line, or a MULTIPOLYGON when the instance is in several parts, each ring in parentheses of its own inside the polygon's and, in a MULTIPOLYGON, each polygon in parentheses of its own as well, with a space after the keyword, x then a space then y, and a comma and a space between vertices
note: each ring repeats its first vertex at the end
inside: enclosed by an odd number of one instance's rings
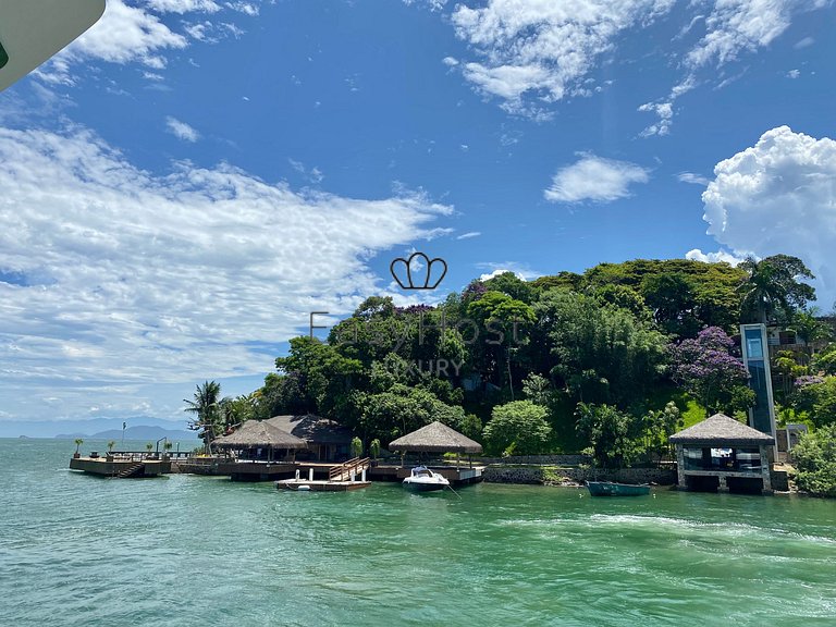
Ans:
POLYGON ((799 279, 815 279, 798 257, 774 255, 760 261, 748 257, 738 266, 748 273, 740 284, 745 320, 767 324, 776 315, 790 320, 808 300, 815 300, 815 290, 799 279))

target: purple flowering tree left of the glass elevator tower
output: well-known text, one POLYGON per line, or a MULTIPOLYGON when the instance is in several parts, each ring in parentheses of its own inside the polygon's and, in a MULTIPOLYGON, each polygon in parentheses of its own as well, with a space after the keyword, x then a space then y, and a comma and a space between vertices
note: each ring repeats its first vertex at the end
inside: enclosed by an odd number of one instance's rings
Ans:
POLYGON ((749 373, 743 362, 732 355, 734 346, 723 329, 709 327, 668 347, 672 379, 705 407, 706 416, 750 406, 754 399, 746 386, 749 373))

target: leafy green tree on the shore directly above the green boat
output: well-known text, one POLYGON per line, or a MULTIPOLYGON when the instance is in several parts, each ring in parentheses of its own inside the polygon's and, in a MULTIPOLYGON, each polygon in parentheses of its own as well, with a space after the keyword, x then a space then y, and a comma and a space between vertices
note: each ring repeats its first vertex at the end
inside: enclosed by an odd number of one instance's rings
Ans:
POLYGON ((612 405, 578 403, 578 433, 601 468, 624 468, 642 452, 640 420, 612 405))

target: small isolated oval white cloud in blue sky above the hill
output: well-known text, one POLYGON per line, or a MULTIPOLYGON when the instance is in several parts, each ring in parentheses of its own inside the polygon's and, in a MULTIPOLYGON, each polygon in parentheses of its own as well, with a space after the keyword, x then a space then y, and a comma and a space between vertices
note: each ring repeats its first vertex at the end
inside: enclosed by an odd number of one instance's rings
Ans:
POLYGON ((631 183, 647 183, 648 170, 628 161, 583 156, 557 171, 543 195, 554 202, 608 202, 629 196, 631 183))

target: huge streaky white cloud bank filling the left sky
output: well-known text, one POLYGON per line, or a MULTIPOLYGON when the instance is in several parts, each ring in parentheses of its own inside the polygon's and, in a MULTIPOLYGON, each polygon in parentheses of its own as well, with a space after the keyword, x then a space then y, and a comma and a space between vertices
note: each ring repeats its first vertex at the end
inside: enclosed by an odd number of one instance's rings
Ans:
POLYGON ((269 371, 309 311, 380 292, 369 258, 452 211, 225 164, 152 175, 84 130, 0 127, 0 397, 19 416, 47 411, 44 396, 65 415, 130 411, 137 385, 269 371))

